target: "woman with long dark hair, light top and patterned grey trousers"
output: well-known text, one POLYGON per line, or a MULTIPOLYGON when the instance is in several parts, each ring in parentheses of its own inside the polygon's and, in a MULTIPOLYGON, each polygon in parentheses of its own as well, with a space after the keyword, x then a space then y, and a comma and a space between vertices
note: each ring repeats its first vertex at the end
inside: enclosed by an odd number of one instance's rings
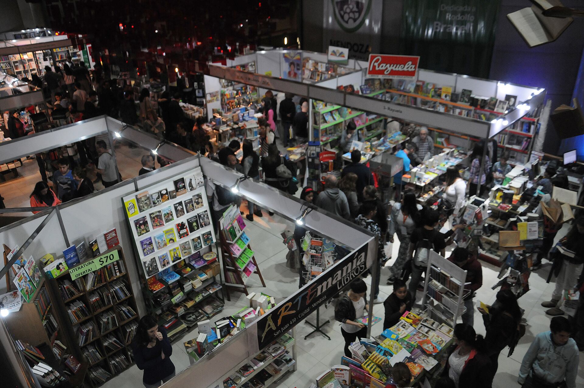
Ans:
POLYGON ((404 264, 408 261, 409 239, 413 230, 420 226, 422 215, 420 214, 422 206, 416 202, 416 194, 413 191, 404 191, 404 197, 401 202, 393 205, 391 208, 391 219, 389 226, 389 239, 394 242, 394 233, 397 233, 399 239, 398 258, 394 265, 391 266, 390 278, 387 284, 394 284, 399 279, 404 269, 404 264))

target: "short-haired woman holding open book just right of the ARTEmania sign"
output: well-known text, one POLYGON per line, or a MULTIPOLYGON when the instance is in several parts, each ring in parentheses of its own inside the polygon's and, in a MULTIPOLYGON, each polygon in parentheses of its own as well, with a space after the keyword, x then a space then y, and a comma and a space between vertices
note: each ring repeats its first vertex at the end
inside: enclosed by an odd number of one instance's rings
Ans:
POLYGON ((367 326, 357 319, 363 317, 365 310, 369 309, 369 305, 365 302, 367 285, 363 279, 354 279, 349 286, 347 295, 340 298, 335 307, 335 320, 342 323, 340 333, 345 338, 343 350, 347 357, 351 357, 349 345, 357 338, 367 336, 367 326))

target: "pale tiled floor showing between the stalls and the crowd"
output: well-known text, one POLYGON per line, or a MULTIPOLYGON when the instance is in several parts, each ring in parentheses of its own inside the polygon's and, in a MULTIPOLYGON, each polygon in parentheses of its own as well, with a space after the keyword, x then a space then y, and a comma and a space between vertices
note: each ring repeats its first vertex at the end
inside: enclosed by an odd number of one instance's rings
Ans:
MULTIPOLYGON (((133 177, 140 169, 140 157, 144 153, 141 149, 129 149, 125 146, 116 148, 116 155, 121 166, 121 174, 124 178, 133 177)), ((0 193, 6 198, 6 205, 11 207, 28 205, 28 196, 32 191, 34 183, 40 180, 38 167, 34 160, 27 160, 25 166, 19 169, 24 177, 10 180, 8 183, 0 184, 0 193)), ((100 184, 96 188, 101 188, 100 184)), ((247 212, 247 207, 242 205, 242 210, 247 212)), ((298 274, 291 271, 285 265, 286 263, 286 247, 281 241, 280 233, 284 228, 293 229, 292 223, 280 218, 277 215, 269 216, 264 213, 263 218, 255 218, 254 222, 248 222, 246 232, 251 238, 253 250, 256 252, 256 261, 258 261, 260 270, 266 281, 266 289, 261 288, 260 281, 256 275, 248 281, 248 286, 251 291, 258 291, 262 289, 266 293, 273 295, 277 299, 284 298, 298 288, 298 274)), ((565 233, 562 230, 558 233, 557 238, 565 233)), ((397 255, 399 249, 399 242, 394 244, 394 255, 397 255)), ((491 286, 495 284, 498 279, 498 268, 490 264, 481 262, 483 267, 483 286, 477 292, 477 300, 482 300, 485 303, 491 304, 495 300, 497 290, 492 290, 491 286)), ((529 348, 531 341, 536 334, 541 331, 549 330, 550 317, 545 315, 544 307, 540 303, 544 300, 550 299, 554 284, 546 284, 548 271, 550 271, 550 264, 544 264, 544 267, 537 272, 533 272, 529 279, 530 291, 519 299, 519 305, 525 309, 524 317, 527 319, 526 335, 522 338, 519 345, 515 349, 514 354, 506 357, 506 350, 502 352, 499 359, 499 370, 495 376, 493 387, 495 388, 515 388, 519 387, 517 384, 517 373, 519 372, 520 363, 523 355, 529 348)), ((381 273, 380 296, 387 297, 392 292, 392 287, 385 285, 385 280, 389 274, 388 268, 384 268, 381 273)), ((366 279, 367 284, 370 284, 371 277, 366 279)), ((242 293, 232 294, 231 302, 227 302, 224 309, 224 314, 232 314, 237 312, 244 306, 245 295, 242 293)), ((278 388, 307 388, 310 383, 314 381, 324 370, 332 365, 340 362, 340 356, 343 354, 343 338, 340 334, 339 323, 333 319, 333 307, 329 306, 327 309, 321 307, 321 321, 327 319, 331 320, 326 324, 322 330, 331 336, 329 341, 320 334, 313 334, 311 337, 304 340, 304 335, 312 331, 312 327, 308 326, 305 321, 300 322, 296 326, 297 333, 297 349, 298 349, 298 370, 294 373, 288 373, 277 384, 278 388)), ((374 314, 383 317, 383 305, 374 306, 374 314)), ((315 314, 308 317, 311 322, 315 321, 315 314)), ((377 335, 381 332, 381 324, 373 327, 373 334, 377 335)), ((475 311, 475 329, 477 333, 484 334, 484 325, 480 314, 475 311)), ((184 340, 189 340, 196 337, 196 331, 186 334, 184 340)), ((176 371, 180 372, 189 365, 188 356, 186 355, 182 346, 182 341, 179 340, 173 345, 172 361, 175 363, 176 371)), ((578 386, 584 386, 584 357, 580 357, 580 368, 578 370, 578 386)), ((133 366, 124 372, 122 375, 115 377, 107 382, 105 388, 141 388, 142 387, 142 372, 133 366)))

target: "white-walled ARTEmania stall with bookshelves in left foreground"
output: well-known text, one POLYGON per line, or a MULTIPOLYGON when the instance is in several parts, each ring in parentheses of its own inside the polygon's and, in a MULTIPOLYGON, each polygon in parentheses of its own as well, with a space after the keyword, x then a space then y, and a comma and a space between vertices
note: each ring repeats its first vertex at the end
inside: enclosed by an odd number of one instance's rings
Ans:
POLYGON ((297 198, 241 181, 234 170, 109 117, 2 146, 2 157, 104 132, 173 163, 0 229, 8 291, 0 335, 13 351, 11 367, 33 385, 101 386, 134 365, 130 345, 138 319, 152 314, 169 340, 185 341, 183 357, 193 364, 168 384, 183 386, 198 376, 204 386, 232 379, 267 387, 296 369, 294 326, 377 260, 374 236, 318 210, 302 215, 306 204, 297 198), (326 236, 329 246, 342 241, 342 257, 283 298, 265 287, 246 289, 246 278, 262 276, 262 264, 235 207, 214 225, 203 184, 210 179, 227 190, 237 186, 241 197, 288 220, 301 217, 304 228, 326 236), (245 298, 230 302, 227 289, 237 286, 245 298), (195 327, 198 334, 189 340, 195 327))

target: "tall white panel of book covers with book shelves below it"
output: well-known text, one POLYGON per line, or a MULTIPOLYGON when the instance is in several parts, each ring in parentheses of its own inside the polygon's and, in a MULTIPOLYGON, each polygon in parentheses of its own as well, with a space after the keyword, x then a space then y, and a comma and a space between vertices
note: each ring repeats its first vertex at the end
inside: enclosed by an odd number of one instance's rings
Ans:
POLYGON ((123 197, 148 313, 174 342, 223 310, 215 233, 200 167, 123 197), (219 280, 219 281, 218 281, 219 280), (221 294, 221 296, 218 296, 221 294))

